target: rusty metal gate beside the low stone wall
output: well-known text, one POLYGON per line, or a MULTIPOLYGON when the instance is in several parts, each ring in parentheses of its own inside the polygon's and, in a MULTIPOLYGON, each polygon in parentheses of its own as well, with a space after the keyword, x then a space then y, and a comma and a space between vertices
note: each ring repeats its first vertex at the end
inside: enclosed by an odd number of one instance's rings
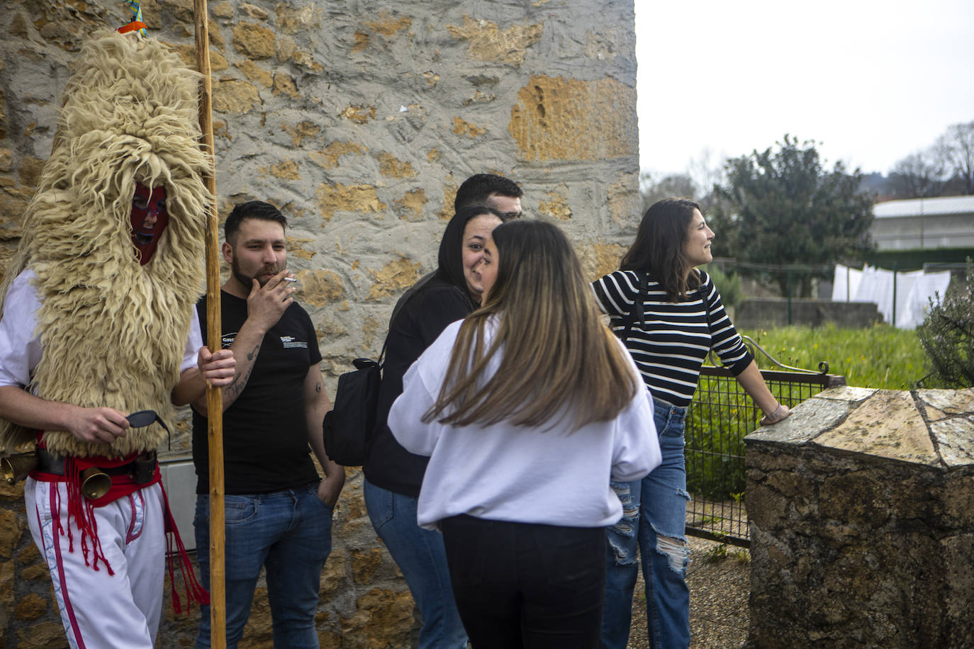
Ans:
MULTIPOLYGON (((828 387, 845 384, 844 377, 829 374, 828 363, 820 363, 818 372, 783 365, 761 345, 743 338, 752 355, 757 358, 759 352, 782 368, 761 374, 771 393, 789 408, 828 387)), ((688 534, 750 545, 744 507, 744 437, 758 428, 759 418, 760 409, 728 369, 703 366, 686 426, 687 490, 693 498, 687 507, 688 534)))

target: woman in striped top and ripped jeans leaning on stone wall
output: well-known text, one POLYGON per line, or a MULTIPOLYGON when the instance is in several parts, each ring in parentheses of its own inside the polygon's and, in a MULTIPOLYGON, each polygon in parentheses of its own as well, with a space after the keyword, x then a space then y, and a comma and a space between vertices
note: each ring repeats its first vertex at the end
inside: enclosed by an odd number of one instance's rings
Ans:
POLYGON ((713 257, 713 231, 700 206, 666 198, 651 206, 619 270, 592 283, 595 298, 632 354, 653 394, 662 464, 639 482, 613 483, 626 516, 609 528, 602 646, 625 649, 632 594, 642 557, 650 646, 690 644, 685 524, 687 470, 684 418, 713 349, 765 413, 762 424, 789 415, 768 390, 761 371, 731 323, 707 273, 694 267, 713 257), (642 319, 636 306, 642 303, 642 319))

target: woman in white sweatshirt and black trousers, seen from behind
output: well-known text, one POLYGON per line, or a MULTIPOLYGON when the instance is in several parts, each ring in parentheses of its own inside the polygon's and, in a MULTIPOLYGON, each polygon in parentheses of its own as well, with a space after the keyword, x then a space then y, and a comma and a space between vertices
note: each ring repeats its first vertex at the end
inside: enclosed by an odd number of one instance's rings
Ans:
POLYGON ((430 456, 418 521, 442 530, 475 649, 597 647, 622 514, 609 481, 658 464, 650 399, 555 226, 498 227, 478 268, 483 306, 409 369, 390 413, 430 456))

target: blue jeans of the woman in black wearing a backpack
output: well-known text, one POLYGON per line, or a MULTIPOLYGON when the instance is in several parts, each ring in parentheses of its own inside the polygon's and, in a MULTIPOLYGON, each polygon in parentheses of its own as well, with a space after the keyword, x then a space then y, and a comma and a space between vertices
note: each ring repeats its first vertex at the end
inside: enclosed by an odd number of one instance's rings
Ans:
POLYGON ((365 509, 389 549, 423 617, 419 649, 466 649, 467 631, 453 600, 443 535, 416 523, 416 498, 363 487, 365 509))

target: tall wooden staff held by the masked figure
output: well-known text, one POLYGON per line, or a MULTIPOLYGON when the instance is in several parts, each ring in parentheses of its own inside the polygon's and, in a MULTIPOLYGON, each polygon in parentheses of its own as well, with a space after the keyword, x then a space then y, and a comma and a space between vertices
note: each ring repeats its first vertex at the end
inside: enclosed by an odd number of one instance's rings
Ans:
MULTIPOLYGON (((216 221, 216 168, 213 150, 212 88, 209 70, 209 12, 206 0, 194 0, 196 55, 203 86, 200 89, 200 128, 204 150, 210 156, 206 189, 213 204, 206 212, 206 341, 211 351, 222 346, 220 324, 220 260, 216 221)), ((206 384, 206 418, 209 421, 209 644, 215 649, 227 646, 226 571, 223 549, 226 529, 223 513, 223 395, 219 387, 206 384)))

